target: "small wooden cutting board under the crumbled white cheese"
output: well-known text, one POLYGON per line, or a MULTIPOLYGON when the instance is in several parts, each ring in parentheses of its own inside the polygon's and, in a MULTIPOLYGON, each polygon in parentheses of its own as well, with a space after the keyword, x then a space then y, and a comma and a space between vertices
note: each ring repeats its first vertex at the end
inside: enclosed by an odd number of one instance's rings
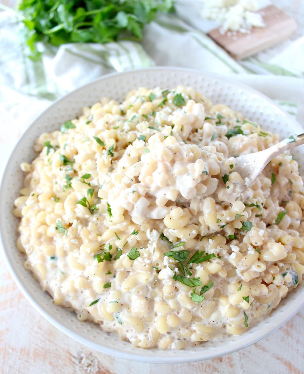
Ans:
POLYGON ((274 5, 260 9, 258 13, 262 15, 265 27, 254 27, 250 34, 230 32, 223 35, 217 28, 208 36, 233 58, 240 59, 282 42, 297 28, 294 19, 274 5))

